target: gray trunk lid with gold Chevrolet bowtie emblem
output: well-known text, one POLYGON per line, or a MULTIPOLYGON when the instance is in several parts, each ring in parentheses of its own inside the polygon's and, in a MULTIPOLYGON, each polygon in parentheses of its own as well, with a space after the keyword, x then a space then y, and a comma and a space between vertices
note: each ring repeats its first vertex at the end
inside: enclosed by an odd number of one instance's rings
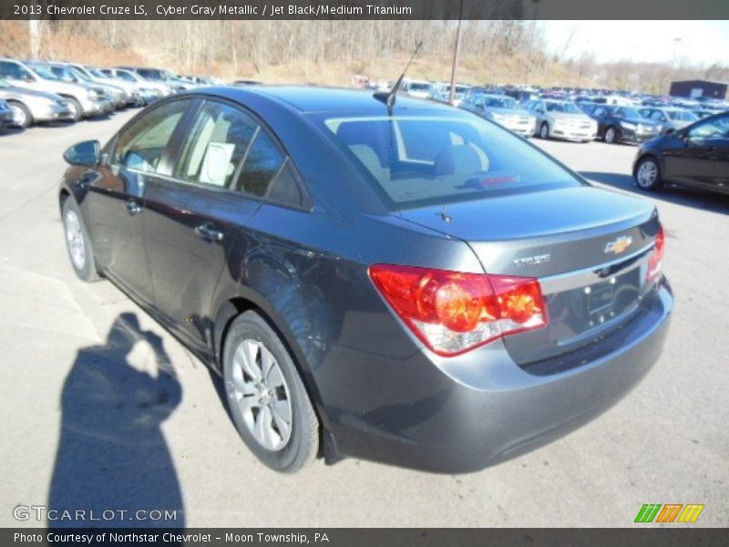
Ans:
POLYGON ((505 338, 519 364, 572 351, 628 321, 647 290, 660 226, 651 203, 590 186, 399 214, 468 243, 488 274, 539 278, 549 325, 505 338))

